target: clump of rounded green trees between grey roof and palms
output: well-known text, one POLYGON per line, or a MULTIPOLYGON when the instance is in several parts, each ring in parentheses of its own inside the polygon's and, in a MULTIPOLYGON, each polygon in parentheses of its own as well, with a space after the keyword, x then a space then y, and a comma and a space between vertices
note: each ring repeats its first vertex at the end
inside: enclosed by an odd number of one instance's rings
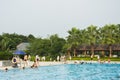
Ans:
POLYGON ((29 51, 31 55, 49 56, 55 58, 62 52, 62 47, 65 44, 63 38, 58 35, 51 35, 48 39, 34 39, 30 43, 29 51))

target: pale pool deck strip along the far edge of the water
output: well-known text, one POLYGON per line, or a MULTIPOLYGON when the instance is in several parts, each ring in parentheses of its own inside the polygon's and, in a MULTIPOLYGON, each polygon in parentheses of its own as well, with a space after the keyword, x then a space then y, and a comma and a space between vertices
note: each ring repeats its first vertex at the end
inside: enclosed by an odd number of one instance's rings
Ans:
MULTIPOLYGON (((98 61, 78 61, 78 60, 74 60, 74 61, 66 61, 66 62, 57 62, 57 61, 40 61, 39 62, 39 66, 51 66, 51 65, 61 65, 61 64, 79 64, 80 62, 86 62, 86 63, 99 63, 98 61)), ((108 63, 108 62, 106 62, 108 63)), ((30 61, 29 62, 29 65, 26 66, 27 68, 32 66, 33 64, 33 61, 30 61)), ((120 64, 120 62, 113 62, 111 61, 110 64, 120 64)), ((24 64, 21 65, 21 67, 18 67, 18 68, 22 68, 24 67, 24 64)), ((5 68, 7 68, 8 70, 9 69, 13 69, 12 66, 5 66, 5 67, 2 67, 0 66, 0 70, 5 70, 5 68)))

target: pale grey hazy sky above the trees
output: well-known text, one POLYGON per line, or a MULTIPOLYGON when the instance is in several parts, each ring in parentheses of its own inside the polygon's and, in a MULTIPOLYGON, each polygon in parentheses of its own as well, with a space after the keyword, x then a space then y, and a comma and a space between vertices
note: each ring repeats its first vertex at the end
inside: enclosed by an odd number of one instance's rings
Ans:
POLYGON ((72 27, 120 23, 120 0, 0 0, 0 35, 67 37, 72 27))

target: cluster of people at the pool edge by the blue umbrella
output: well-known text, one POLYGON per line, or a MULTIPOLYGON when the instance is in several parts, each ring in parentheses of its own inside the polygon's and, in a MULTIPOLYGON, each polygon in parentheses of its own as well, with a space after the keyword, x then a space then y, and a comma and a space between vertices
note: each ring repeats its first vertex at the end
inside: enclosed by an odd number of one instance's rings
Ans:
POLYGON ((25 68, 25 67, 31 66, 31 68, 36 68, 37 66, 39 66, 40 57, 38 55, 36 55, 35 60, 32 65, 30 65, 30 59, 31 59, 30 55, 25 55, 23 60, 20 59, 19 56, 14 56, 12 58, 13 67, 20 66, 22 68, 25 68), (22 64, 24 66, 22 66, 22 64))

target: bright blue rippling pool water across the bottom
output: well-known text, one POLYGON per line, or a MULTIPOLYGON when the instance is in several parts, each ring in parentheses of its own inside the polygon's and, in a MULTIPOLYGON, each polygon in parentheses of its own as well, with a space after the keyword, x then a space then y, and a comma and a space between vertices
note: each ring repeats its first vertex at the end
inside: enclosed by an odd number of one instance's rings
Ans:
POLYGON ((120 64, 64 64, 0 71, 0 80, 120 80, 120 64))

